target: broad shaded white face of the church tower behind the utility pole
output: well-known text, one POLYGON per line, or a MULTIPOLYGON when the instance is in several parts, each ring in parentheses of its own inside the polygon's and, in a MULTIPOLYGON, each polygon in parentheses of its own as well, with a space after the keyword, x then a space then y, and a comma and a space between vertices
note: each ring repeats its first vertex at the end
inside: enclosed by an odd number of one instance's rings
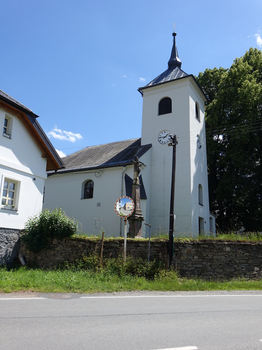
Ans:
POLYGON ((145 89, 141 144, 152 143, 150 221, 152 230, 169 230, 172 147, 160 145, 158 134, 176 134, 175 203, 176 232, 191 232, 191 179, 189 142, 189 79, 145 89), (158 116, 158 103, 172 99, 172 113, 158 116))

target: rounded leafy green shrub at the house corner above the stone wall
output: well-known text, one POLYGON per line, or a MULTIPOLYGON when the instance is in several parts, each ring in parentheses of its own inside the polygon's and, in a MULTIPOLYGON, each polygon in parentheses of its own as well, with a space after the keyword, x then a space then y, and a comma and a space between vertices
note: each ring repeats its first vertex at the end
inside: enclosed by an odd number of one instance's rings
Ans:
POLYGON ((51 212, 44 209, 29 218, 24 227, 25 233, 21 239, 30 250, 39 252, 48 246, 50 237, 64 238, 76 234, 78 222, 68 217, 61 208, 51 212))

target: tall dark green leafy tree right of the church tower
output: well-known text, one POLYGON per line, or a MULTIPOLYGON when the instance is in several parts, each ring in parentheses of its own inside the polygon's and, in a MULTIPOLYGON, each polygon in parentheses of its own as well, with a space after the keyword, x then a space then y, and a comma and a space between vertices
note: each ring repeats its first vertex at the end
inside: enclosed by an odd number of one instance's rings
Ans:
POLYGON ((206 69, 210 210, 221 230, 262 230, 262 53, 250 48, 230 69, 206 69))

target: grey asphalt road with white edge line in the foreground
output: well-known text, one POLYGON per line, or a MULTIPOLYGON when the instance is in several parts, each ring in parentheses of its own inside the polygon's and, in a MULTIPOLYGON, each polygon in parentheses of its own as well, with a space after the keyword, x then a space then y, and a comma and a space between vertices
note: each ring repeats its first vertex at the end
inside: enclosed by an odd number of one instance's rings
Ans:
POLYGON ((0 294, 1 348, 262 350, 262 291, 0 294))

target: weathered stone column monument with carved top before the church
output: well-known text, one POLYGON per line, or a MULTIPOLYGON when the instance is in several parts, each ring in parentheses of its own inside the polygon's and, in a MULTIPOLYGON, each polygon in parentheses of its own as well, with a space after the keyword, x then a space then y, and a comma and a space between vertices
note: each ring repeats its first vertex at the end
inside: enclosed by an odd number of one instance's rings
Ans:
POLYGON ((139 181, 139 173, 141 172, 140 165, 142 163, 139 162, 138 157, 135 157, 132 161, 134 165, 134 177, 133 177, 133 184, 132 184, 132 200, 134 202, 134 211, 133 213, 127 218, 129 222, 129 232, 128 237, 131 238, 142 238, 142 222, 145 220, 141 207, 140 207, 140 181, 139 181))

